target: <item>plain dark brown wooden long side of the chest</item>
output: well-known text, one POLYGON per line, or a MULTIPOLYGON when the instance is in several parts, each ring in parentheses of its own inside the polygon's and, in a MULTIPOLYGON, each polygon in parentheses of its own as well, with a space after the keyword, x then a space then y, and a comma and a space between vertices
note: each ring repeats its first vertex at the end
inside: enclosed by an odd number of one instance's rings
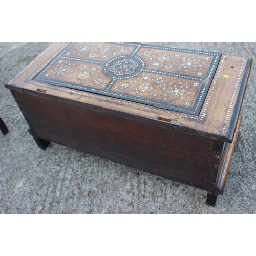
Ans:
POLYGON ((73 101, 12 91, 35 137, 212 192, 223 142, 73 101))

